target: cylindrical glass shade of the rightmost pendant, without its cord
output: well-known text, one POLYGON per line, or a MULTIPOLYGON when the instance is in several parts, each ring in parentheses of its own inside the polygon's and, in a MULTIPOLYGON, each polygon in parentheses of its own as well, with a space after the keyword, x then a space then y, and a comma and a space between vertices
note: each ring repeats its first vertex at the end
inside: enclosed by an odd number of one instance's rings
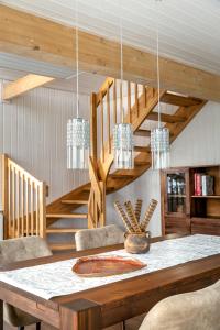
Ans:
POLYGON ((169 130, 156 128, 151 132, 152 167, 154 169, 169 167, 169 130))

